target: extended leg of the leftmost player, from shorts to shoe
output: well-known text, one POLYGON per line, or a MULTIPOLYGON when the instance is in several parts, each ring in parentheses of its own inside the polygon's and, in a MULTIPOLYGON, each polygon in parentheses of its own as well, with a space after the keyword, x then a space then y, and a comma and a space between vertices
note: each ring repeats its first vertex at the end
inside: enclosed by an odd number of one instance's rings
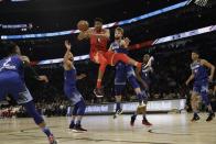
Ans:
POLYGON ((33 98, 28 90, 28 88, 21 82, 21 80, 18 80, 14 82, 15 85, 11 87, 11 92, 13 98, 18 101, 19 104, 22 104, 28 114, 33 118, 34 122, 39 125, 39 128, 46 134, 48 137, 50 144, 57 144, 53 133, 51 130, 46 126, 43 118, 36 111, 36 108, 33 102, 33 98))

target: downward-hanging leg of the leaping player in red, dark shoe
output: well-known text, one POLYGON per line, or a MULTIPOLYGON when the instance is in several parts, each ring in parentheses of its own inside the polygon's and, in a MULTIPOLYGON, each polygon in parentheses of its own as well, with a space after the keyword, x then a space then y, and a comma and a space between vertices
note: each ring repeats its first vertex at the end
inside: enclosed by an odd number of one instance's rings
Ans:
POLYGON ((101 89, 101 82, 102 82, 102 77, 107 67, 107 59, 104 56, 102 52, 98 52, 94 55, 93 57, 94 62, 99 64, 99 70, 98 70, 98 77, 97 77, 97 86, 96 89, 94 90, 95 95, 97 97, 102 97, 104 96, 104 91, 101 89))

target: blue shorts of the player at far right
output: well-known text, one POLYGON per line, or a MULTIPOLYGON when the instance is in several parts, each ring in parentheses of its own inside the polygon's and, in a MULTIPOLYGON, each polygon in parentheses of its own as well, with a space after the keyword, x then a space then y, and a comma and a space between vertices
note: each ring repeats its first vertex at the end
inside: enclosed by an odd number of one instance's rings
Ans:
POLYGON ((193 91, 202 95, 208 92, 208 81, 207 80, 201 80, 201 81, 194 81, 193 91))

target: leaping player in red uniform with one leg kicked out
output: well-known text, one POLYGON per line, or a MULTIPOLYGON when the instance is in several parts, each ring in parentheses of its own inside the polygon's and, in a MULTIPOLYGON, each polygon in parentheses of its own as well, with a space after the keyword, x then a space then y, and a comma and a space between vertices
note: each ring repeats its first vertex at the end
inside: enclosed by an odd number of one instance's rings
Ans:
POLYGON ((90 38, 90 59, 99 64, 97 86, 94 90, 97 97, 102 97, 101 80, 107 65, 114 66, 117 62, 123 62, 126 64, 133 65, 141 68, 141 64, 134 59, 128 57, 125 54, 118 54, 114 52, 108 52, 107 43, 110 37, 110 32, 107 29, 102 29, 102 20, 95 19, 95 27, 88 29, 85 32, 80 32, 78 40, 90 38))

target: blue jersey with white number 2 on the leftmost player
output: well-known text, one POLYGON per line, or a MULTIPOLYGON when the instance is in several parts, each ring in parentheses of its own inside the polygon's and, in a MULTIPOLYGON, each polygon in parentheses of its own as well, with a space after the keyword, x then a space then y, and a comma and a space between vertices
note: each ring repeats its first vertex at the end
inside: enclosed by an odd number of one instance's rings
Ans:
POLYGON ((22 80, 24 80, 23 62, 20 56, 14 55, 0 60, 0 73, 7 71, 15 71, 20 75, 22 80))

